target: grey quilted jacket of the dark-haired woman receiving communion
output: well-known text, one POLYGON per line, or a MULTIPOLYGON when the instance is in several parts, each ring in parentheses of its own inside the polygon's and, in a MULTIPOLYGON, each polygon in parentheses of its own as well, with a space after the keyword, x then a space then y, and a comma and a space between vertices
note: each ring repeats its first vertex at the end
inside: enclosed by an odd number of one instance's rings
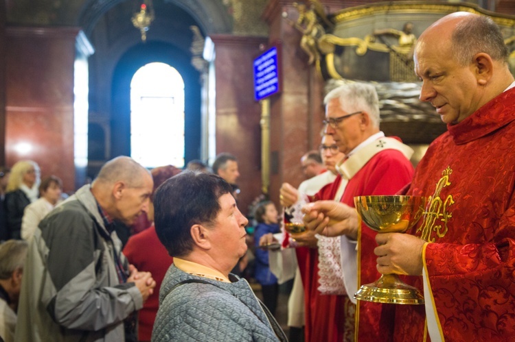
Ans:
POLYGON ((152 341, 279 341, 249 283, 230 277, 231 283, 219 282, 170 266, 159 292, 152 341), (176 286, 192 279, 209 284, 176 286))

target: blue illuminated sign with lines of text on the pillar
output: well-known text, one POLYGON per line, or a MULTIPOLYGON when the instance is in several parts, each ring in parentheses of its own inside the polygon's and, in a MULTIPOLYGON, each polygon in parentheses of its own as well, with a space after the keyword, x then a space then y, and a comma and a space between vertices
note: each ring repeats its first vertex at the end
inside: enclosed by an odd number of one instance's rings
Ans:
POLYGON ((254 60, 254 98, 256 101, 279 93, 277 47, 268 49, 254 60))

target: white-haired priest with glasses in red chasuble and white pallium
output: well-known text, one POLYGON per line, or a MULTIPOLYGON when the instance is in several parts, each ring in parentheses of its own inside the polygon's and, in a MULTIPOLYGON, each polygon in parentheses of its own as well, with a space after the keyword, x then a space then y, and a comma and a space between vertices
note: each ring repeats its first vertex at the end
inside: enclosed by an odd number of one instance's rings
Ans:
MULTIPOLYGON (((374 86, 363 83, 339 86, 325 96, 324 103, 325 134, 332 136, 339 151, 345 154, 345 159, 336 164, 341 177, 336 178, 330 186, 322 188, 314 195, 313 201, 331 199, 354 206, 354 196, 391 195, 409 183, 413 175, 413 166, 409 162, 413 150, 395 138, 386 138, 380 131, 379 101, 374 86)), ((283 200, 292 199, 288 188, 284 186, 281 195, 283 200)), ((358 245, 358 254, 361 253, 362 258, 375 260, 374 238, 375 232, 363 228, 361 243, 358 245)), ((356 241, 357 235, 341 237, 341 262, 351 265, 342 270, 345 289, 339 293, 348 294, 339 296, 344 299, 343 304, 336 305, 336 308, 326 308, 325 313, 313 316, 312 327, 317 329, 314 331, 318 332, 320 326, 328 331, 329 335, 324 341, 354 341, 354 317, 350 302, 356 304, 353 295, 358 289, 356 241), (346 310, 343 315, 339 309, 341 306, 346 310)), ((361 270, 362 284, 378 277, 376 269, 361 270)), ((378 320, 381 317, 380 309, 376 303, 360 303, 360 319, 378 320)), ((306 341, 319 339, 318 333, 307 332, 306 337, 306 341)))

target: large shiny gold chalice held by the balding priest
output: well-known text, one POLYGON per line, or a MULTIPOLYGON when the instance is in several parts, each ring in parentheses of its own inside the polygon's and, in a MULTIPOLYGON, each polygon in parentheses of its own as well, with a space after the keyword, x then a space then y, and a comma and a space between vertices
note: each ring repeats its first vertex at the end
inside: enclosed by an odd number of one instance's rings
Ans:
MULTIPOLYGON (((361 220, 381 233, 404 233, 424 215, 426 197, 357 196, 354 205, 361 220)), ((376 282, 362 285, 356 300, 390 304, 424 304, 422 293, 400 280, 396 274, 383 274, 376 282)))

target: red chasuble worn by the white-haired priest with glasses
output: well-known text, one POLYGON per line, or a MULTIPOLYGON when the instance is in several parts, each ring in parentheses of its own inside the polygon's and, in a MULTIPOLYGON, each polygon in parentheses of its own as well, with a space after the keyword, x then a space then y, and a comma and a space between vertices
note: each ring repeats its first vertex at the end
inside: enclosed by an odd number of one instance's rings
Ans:
MULTIPOLYGON (((366 164, 350 178, 341 201, 354 207, 354 196, 358 195, 393 195, 408 184, 413 176, 413 166, 404 155, 396 149, 384 149, 370 158, 366 164)), ((314 200, 333 199, 338 191, 341 176, 325 186, 314 196, 314 200)), ((361 284, 373 282, 380 277, 376 269, 374 248, 376 232, 365 225, 361 234, 361 284)), ((310 249, 306 262, 301 262, 297 254, 306 295, 306 341, 342 341, 345 330, 346 309, 350 303, 346 295, 322 295, 317 291, 318 267, 317 250, 310 249)), ((350 293, 349 295, 353 295, 350 293)), ((360 323, 358 341, 382 341, 391 337, 389 331, 380 330, 378 322, 389 319, 393 321, 393 312, 382 310, 381 304, 358 302, 360 304, 360 323)), ((393 308, 393 306, 391 306, 393 308)), ((357 313, 356 313, 357 314, 357 313)), ((391 324, 393 327, 393 325, 391 324)), ((347 338, 347 337, 345 337, 347 338)), ((353 337, 350 339, 354 340, 353 337)), ((345 340, 345 341, 348 341, 345 340)))

